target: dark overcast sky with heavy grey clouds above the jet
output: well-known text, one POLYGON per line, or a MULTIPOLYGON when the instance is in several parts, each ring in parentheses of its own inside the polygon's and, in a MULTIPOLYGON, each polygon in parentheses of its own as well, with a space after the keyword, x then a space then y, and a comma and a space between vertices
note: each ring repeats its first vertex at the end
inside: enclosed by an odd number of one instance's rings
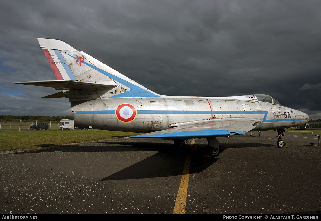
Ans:
POLYGON ((268 94, 321 118, 321 1, 1 0, 0 115, 70 115, 37 37, 66 41, 152 91, 268 94))

